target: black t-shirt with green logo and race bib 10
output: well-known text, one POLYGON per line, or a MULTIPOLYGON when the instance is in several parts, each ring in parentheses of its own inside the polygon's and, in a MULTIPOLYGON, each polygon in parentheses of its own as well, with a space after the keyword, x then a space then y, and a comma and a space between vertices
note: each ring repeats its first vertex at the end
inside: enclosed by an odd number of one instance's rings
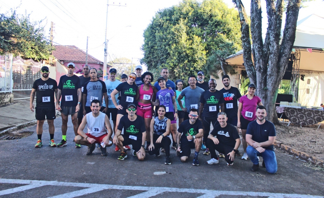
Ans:
POLYGON ((77 75, 61 76, 58 88, 62 90, 61 106, 78 104, 78 89, 81 88, 81 82, 77 75))

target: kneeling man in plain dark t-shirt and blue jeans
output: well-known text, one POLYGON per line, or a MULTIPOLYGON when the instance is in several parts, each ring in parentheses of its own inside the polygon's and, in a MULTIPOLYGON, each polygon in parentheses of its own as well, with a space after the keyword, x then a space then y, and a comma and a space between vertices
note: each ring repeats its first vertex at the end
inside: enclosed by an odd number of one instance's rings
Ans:
POLYGON ((257 119, 250 122, 246 131, 246 142, 249 146, 246 152, 253 162, 251 171, 259 168, 258 156, 263 158, 262 167, 267 172, 274 174, 277 172, 277 160, 274 153, 273 144, 276 139, 276 129, 272 122, 265 120, 267 116, 266 108, 262 105, 257 107, 257 119))

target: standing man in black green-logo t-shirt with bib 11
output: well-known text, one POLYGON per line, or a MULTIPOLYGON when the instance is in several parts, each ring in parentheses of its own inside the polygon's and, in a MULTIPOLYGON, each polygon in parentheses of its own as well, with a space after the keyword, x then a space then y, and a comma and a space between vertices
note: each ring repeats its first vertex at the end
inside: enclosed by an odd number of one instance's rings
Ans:
POLYGON ((210 123, 213 126, 218 125, 217 114, 219 113, 219 105, 221 111, 224 112, 224 98, 222 92, 216 90, 216 80, 210 79, 208 82, 209 90, 204 91, 200 96, 199 119, 203 122, 204 135, 202 149, 205 150, 204 155, 209 155, 208 147, 205 144, 210 132, 210 123))

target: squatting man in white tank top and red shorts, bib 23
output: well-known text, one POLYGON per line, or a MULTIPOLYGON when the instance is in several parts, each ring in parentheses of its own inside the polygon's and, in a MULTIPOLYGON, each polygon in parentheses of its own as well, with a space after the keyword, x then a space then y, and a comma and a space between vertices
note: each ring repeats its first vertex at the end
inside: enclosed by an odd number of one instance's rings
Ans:
POLYGON ((87 155, 91 155, 96 148, 96 143, 101 144, 101 155, 107 156, 106 148, 110 147, 109 140, 112 135, 112 128, 105 113, 100 112, 101 102, 97 99, 91 101, 90 113, 83 117, 81 125, 78 128, 78 136, 75 136, 75 143, 85 145, 88 147, 87 155), (84 133, 84 127, 88 127, 88 132, 84 133), (107 129, 108 134, 107 134, 107 129))

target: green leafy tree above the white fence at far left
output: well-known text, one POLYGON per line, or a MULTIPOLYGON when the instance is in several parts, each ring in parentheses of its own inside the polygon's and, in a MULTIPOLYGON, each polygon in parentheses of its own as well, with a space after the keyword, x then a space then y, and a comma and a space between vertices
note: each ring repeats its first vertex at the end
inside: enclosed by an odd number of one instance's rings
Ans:
POLYGON ((44 26, 41 25, 43 20, 31 21, 29 15, 18 15, 12 10, 10 16, 0 16, 1 55, 12 53, 34 60, 49 59, 53 47, 48 40, 42 38, 45 37, 44 26))

